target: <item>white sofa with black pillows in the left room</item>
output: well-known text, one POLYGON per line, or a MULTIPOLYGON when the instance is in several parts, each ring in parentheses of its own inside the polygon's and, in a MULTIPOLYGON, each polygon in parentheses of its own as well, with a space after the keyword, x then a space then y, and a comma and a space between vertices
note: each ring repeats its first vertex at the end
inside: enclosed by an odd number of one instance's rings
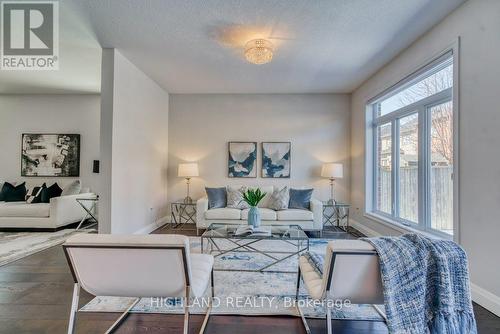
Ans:
POLYGON ((0 230, 56 230, 85 217, 77 198, 95 197, 81 193, 54 197, 50 203, 0 202, 0 230))

